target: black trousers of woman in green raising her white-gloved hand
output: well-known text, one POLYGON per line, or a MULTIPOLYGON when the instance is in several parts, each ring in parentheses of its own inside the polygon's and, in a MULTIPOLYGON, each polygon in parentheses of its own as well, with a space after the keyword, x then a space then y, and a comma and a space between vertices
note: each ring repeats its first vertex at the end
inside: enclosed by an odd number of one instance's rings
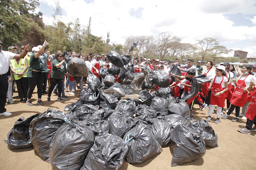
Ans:
POLYGON ((28 77, 28 82, 29 82, 28 99, 31 99, 35 86, 37 86, 38 99, 41 99, 43 79, 44 77, 42 72, 32 71, 32 77, 28 77))

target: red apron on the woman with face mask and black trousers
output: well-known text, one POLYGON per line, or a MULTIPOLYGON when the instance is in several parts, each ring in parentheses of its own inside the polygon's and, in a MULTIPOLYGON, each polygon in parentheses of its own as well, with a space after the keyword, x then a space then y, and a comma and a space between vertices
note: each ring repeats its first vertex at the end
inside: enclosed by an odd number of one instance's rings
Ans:
MULTIPOLYGON (((246 76, 246 78, 248 77, 248 75, 246 76)), ((237 83, 236 83, 237 87, 233 92, 233 95, 230 99, 230 103, 235 106, 243 107, 247 100, 248 92, 247 91, 243 92, 244 87, 246 87, 245 79, 244 80, 240 80, 240 79, 237 80, 237 83)))

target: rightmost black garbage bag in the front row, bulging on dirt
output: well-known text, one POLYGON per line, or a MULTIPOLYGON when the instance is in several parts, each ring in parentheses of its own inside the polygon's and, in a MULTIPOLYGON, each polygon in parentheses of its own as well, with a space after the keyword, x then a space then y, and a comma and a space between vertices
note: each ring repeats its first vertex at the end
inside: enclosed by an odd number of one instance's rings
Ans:
POLYGON ((171 132, 171 142, 172 167, 191 162, 205 154, 205 143, 201 134, 189 126, 177 125, 171 132))

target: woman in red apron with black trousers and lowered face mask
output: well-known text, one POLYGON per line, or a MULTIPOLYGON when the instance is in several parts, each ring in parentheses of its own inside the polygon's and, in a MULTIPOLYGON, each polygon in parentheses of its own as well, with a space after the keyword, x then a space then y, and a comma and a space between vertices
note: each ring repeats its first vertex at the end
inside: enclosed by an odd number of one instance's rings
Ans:
POLYGON ((243 75, 240 76, 237 81, 233 80, 236 84, 236 89, 234 90, 233 95, 230 99, 231 106, 228 113, 221 118, 228 119, 229 115, 236 108, 236 118, 234 118, 232 121, 237 122, 239 120, 240 107, 243 107, 248 97, 247 89, 249 88, 250 82, 256 80, 255 77, 251 75, 251 70, 251 66, 242 67, 241 72, 243 75))

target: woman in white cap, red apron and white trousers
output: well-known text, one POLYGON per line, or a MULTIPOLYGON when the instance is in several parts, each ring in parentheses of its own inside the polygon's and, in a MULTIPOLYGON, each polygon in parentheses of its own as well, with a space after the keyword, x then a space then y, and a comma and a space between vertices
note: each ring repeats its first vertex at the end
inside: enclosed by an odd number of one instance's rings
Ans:
POLYGON ((215 78, 211 81, 208 90, 211 91, 211 101, 209 106, 208 118, 211 121, 211 116, 213 114, 213 109, 217 105, 217 119, 215 123, 219 123, 219 118, 221 117, 222 107, 225 106, 225 94, 224 92, 228 90, 228 79, 223 75, 225 70, 224 66, 218 66, 215 70, 215 78))

